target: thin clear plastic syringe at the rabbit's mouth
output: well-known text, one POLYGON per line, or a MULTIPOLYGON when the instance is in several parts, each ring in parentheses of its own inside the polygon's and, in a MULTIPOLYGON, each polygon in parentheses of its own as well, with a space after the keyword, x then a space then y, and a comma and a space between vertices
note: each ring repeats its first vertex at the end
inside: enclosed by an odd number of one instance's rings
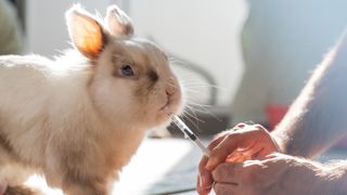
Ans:
POLYGON ((210 152, 203 145, 200 139, 193 133, 193 131, 189 129, 189 127, 178 116, 172 116, 172 121, 184 133, 185 138, 189 138, 198 146, 198 148, 201 148, 205 156, 210 156, 210 152))

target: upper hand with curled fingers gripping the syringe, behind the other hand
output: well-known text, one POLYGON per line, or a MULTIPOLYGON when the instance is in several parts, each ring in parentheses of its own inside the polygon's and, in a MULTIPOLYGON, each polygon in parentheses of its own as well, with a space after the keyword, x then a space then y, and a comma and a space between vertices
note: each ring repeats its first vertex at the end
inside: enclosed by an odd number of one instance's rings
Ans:
POLYGON ((245 123, 218 134, 208 150, 210 157, 204 156, 198 166, 196 188, 201 195, 209 193, 214 183, 211 171, 219 164, 264 159, 268 154, 279 152, 275 141, 262 126, 245 123))

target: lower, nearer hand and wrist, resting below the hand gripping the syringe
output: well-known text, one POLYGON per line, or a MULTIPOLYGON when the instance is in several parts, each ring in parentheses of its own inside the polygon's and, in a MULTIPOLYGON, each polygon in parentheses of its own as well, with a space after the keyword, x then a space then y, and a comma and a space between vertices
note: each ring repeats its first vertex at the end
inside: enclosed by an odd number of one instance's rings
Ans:
POLYGON ((274 153, 265 160, 220 164, 213 187, 218 195, 342 194, 336 178, 318 162, 274 153))

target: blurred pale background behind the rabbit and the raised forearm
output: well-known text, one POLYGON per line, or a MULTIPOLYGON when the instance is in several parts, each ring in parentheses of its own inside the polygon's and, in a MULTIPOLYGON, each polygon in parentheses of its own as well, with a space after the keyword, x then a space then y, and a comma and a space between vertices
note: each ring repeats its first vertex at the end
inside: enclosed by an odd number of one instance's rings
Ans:
POLYGON ((273 129, 347 24, 345 0, 0 0, 0 54, 69 48, 64 12, 75 2, 102 15, 117 3, 169 53, 185 120, 207 135, 245 120, 273 129))

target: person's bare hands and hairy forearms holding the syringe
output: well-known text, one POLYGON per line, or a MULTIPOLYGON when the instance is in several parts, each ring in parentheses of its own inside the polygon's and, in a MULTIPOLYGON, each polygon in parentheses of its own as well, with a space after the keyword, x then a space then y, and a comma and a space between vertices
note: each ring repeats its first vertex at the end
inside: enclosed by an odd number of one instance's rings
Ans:
POLYGON ((198 166, 198 194, 346 194, 347 161, 309 159, 347 134, 346 73, 344 36, 274 131, 240 123, 211 141, 210 158, 198 166))

